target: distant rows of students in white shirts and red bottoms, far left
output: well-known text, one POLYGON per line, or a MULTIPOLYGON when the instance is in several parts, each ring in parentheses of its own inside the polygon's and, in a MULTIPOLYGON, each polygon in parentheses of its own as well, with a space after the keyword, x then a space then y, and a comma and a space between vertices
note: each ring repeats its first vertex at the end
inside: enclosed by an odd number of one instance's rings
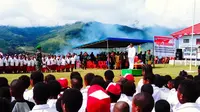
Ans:
MULTIPOLYGON (((42 72, 69 72, 75 68, 77 56, 49 55, 42 57, 42 72)), ((0 55, 0 73, 30 73, 36 70, 36 57, 28 55, 0 55)))

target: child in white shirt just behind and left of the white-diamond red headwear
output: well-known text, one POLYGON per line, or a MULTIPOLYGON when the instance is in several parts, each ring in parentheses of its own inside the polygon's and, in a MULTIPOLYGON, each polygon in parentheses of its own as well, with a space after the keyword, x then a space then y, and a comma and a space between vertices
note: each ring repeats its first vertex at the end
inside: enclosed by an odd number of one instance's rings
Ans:
POLYGON ((85 82, 85 88, 81 90, 81 93, 83 95, 83 103, 82 106, 79 110, 79 112, 84 112, 87 106, 87 94, 88 94, 88 89, 90 88, 90 83, 92 82, 92 79, 94 78, 94 74, 93 73, 87 73, 84 76, 84 82, 85 82))

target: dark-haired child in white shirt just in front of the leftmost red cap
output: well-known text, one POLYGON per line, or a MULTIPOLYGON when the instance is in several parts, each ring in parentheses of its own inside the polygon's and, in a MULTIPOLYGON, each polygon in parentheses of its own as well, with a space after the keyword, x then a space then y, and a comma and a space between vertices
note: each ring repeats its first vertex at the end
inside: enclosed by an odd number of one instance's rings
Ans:
POLYGON ((56 80, 49 81, 47 85, 49 86, 49 90, 50 90, 50 97, 47 101, 47 104, 49 105, 50 108, 56 109, 56 102, 57 102, 58 95, 61 92, 61 85, 56 80))

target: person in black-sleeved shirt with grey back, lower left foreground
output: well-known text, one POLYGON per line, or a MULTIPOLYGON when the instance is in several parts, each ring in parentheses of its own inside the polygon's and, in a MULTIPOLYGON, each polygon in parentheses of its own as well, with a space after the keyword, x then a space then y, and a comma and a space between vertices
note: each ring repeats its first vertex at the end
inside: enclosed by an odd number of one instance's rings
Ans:
POLYGON ((23 81, 19 79, 13 80, 10 84, 10 93, 15 98, 15 100, 11 102, 12 112, 28 112, 32 110, 35 105, 34 103, 24 99, 23 93, 25 87, 23 84, 23 81))

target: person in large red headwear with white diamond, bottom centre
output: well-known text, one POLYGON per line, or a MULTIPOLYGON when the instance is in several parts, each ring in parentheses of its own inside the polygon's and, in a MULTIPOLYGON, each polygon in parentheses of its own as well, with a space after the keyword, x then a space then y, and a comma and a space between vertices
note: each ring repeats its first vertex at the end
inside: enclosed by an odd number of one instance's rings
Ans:
POLYGON ((110 97, 99 85, 92 85, 88 90, 86 112, 110 112, 110 97))

